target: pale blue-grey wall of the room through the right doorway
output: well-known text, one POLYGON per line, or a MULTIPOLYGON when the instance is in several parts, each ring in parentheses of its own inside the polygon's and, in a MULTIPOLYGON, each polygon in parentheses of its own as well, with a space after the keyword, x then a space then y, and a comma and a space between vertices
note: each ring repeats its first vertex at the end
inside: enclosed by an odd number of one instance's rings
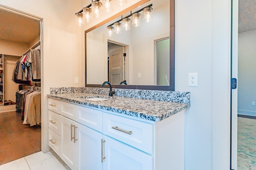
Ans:
POLYGON ((238 113, 256 116, 256 30, 238 33, 238 113))

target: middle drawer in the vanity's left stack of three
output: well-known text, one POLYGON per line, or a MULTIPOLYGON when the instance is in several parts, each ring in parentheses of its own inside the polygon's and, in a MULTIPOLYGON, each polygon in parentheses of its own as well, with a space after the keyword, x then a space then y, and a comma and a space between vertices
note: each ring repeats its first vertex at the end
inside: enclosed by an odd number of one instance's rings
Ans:
POLYGON ((48 110, 48 127, 60 135, 60 115, 48 110))

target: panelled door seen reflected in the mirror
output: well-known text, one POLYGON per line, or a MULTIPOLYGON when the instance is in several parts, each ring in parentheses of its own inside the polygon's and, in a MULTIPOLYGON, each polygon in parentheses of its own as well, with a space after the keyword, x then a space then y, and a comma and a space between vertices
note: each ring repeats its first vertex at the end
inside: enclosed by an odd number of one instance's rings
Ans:
POLYGON ((124 47, 109 51, 109 81, 120 84, 124 81, 124 47))

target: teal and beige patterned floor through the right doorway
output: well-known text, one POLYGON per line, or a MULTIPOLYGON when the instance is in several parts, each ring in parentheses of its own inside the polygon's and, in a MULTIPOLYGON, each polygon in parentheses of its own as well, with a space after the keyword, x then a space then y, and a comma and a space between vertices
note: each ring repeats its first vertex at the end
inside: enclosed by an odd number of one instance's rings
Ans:
POLYGON ((238 170, 256 170, 256 119, 238 117, 238 170))

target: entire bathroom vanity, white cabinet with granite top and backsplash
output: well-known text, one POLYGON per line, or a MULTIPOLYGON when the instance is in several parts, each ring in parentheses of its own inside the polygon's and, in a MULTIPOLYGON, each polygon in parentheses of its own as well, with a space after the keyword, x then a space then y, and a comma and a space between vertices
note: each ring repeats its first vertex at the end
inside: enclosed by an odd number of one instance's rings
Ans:
POLYGON ((109 97, 106 88, 95 89, 54 88, 48 95, 48 144, 72 170, 184 170, 189 93, 179 99, 167 94, 185 102, 178 103, 122 97, 133 94, 124 89, 109 97))

